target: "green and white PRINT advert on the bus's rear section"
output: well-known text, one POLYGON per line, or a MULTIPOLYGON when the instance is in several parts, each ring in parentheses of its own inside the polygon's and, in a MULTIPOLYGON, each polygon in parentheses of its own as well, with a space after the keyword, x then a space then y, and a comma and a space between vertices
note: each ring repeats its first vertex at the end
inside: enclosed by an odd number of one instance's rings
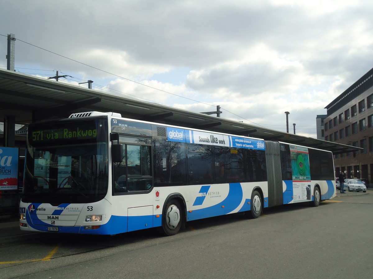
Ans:
POLYGON ((294 201, 311 201, 311 172, 308 148, 290 145, 294 201))

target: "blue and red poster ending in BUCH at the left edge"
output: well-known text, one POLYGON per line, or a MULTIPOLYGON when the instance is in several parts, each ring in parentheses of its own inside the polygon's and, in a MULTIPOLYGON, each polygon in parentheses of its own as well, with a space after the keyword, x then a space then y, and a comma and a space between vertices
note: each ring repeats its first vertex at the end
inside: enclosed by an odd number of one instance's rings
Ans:
POLYGON ((0 190, 17 190, 18 148, 0 147, 0 190))

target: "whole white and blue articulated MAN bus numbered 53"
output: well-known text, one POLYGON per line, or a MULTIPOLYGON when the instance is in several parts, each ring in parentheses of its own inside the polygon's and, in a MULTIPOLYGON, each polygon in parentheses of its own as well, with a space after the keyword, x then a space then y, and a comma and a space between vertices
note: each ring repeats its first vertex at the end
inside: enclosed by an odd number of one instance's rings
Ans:
POLYGON ((336 195, 333 155, 285 142, 75 113, 28 127, 26 231, 114 235, 336 195))

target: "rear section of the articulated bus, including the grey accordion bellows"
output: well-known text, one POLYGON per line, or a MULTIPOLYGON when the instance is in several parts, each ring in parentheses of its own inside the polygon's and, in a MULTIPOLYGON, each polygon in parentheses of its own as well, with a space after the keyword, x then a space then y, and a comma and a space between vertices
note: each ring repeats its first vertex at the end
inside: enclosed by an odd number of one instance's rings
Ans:
POLYGON ((321 201, 336 196, 333 154, 329 151, 266 141, 269 207, 321 201))

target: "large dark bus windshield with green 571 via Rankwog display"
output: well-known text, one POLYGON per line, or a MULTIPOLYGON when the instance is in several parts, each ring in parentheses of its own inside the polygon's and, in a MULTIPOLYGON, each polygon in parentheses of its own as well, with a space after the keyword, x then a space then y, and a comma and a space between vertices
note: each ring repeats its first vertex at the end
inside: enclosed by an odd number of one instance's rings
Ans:
POLYGON ((87 203, 108 187, 107 120, 30 125, 23 202, 87 203))

